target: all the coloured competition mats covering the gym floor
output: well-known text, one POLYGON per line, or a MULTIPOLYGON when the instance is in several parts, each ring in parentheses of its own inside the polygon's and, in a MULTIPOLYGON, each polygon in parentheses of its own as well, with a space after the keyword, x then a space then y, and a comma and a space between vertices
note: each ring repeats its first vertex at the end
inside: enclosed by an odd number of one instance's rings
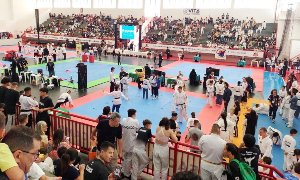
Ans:
MULTIPOLYGON (((0 53, 4 53, 4 51, 7 50, 16 50, 16 46, 1 46, 0 47, 0 53)), ((32 51, 32 46, 30 48, 32 51)), ((22 53, 19 53, 19 55, 22 53)), ((33 51, 31 54, 24 55, 25 58, 32 58, 33 57, 33 51)), ((75 51, 67 51, 67 60, 60 60, 54 62, 55 64, 55 76, 58 76, 58 78, 61 78, 62 81, 60 81, 60 85, 64 87, 74 87, 78 88, 78 74, 77 74, 77 68, 75 67, 77 63, 79 63, 79 60, 81 58, 73 58, 76 57, 75 51), (72 58, 72 59, 70 59, 72 58), (74 82, 69 83, 70 77, 72 76, 74 82)), ((121 57, 122 58, 122 57, 121 57)), ((140 58, 130 57, 133 61, 139 60, 140 58)), ((84 62, 85 65, 87 65, 87 87, 91 88, 93 86, 97 86, 106 82, 109 82, 110 77, 109 73, 111 71, 111 67, 115 67, 115 78, 119 78, 118 73, 119 69, 121 67, 124 68, 124 71, 126 72, 133 72, 135 69, 140 69, 141 66, 137 65, 130 65, 128 64, 122 64, 121 66, 117 65, 115 62, 108 62, 105 61, 105 58, 102 58, 103 61, 95 60, 94 63, 90 62, 84 62)), ((122 62, 122 60, 121 60, 122 62)), ((7 61, 1 61, 0 60, 0 66, 3 66, 4 64, 9 66, 11 62, 7 61)), ((144 66, 144 64, 140 64, 144 66)), ((247 106, 255 106, 255 103, 267 103, 267 98, 271 92, 272 89, 277 89, 278 91, 281 89, 281 86, 284 84, 284 80, 281 77, 278 77, 277 73, 270 73, 265 72, 263 69, 256 69, 256 68, 241 68, 236 67, 232 65, 216 65, 216 64, 209 64, 209 63, 203 63, 203 62, 190 62, 190 61, 172 61, 167 65, 164 65, 161 68, 157 68, 157 70, 163 71, 166 73, 166 79, 165 82, 167 82, 168 77, 176 77, 178 75, 179 71, 182 71, 182 74, 184 75, 184 79, 186 86, 188 85, 188 77, 190 74, 190 71, 192 69, 195 69, 196 73, 200 75, 200 80, 203 82, 203 74, 205 74, 206 68, 212 67, 212 68, 218 68, 220 69, 220 76, 223 76, 224 79, 229 83, 229 87, 235 86, 237 81, 242 81, 242 77, 247 77, 250 75, 256 84, 256 88, 254 91, 255 93, 261 93, 262 99, 248 99, 247 106)), ((33 73, 37 73, 38 69, 42 69, 45 76, 48 75, 48 72, 46 71, 46 64, 38 64, 38 65, 32 65, 32 63, 29 63, 29 71, 33 71, 33 73)), ((118 81, 117 79, 116 81, 118 81)), ((200 85, 202 86, 202 85, 200 85)), ((109 85, 105 87, 105 91, 109 92, 110 88, 109 85)), ((122 105, 120 107, 120 114, 122 118, 127 117, 127 110, 130 108, 137 110, 137 117, 136 119, 139 120, 141 126, 142 121, 144 119, 150 119, 152 121, 152 134, 155 134, 155 129, 157 125, 159 124, 159 121, 163 117, 171 117, 171 101, 173 98, 173 89, 171 88, 165 88, 161 87, 159 89, 159 98, 156 100, 152 100, 151 90, 148 94, 148 99, 143 99, 143 91, 139 90, 137 87, 137 83, 130 82, 129 86, 129 99, 130 100, 122 100, 122 105)), ((206 106, 207 97, 205 97, 205 94, 203 94, 205 91, 186 91, 186 94, 189 99, 189 105, 187 106, 187 115, 188 117, 191 117, 191 112, 196 113, 196 118, 199 119, 202 130, 205 134, 209 134, 211 130, 211 125, 220 117, 221 112, 223 112, 223 104, 222 106, 215 106, 215 103, 213 104, 213 108, 209 108, 206 106)), ((51 93, 51 91, 50 91, 51 93)), ((213 102, 215 100, 215 97, 213 97, 213 102)), ((102 114, 102 110, 105 106, 110 106, 112 108, 113 106, 113 97, 104 96, 103 91, 99 89, 99 91, 90 93, 88 95, 79 97, 77 99, 73 99, 73 105, 74 107, 68 107, 66 106, 65 109, 68 109, 70 113, 73 113, 75 115, 80 115, 83 117, 89 117, 96 119, 99 115, 102 114)), ((233 99, 230 101, 233 102, 233 99)), ((231 107, 228 107, 228 110, 231 107)), ((176 109, 176 112, 178 110, 176 109)), ((242 121, 244 120, 244 117, 242 115, 243 112, 246 112, 245 109, 241 108, 241 116, 240 120, 238 122, 238 135, 239 137, 234 138, 234 143, 236 145, 239 145, 241 142, 241 136, 242 136, 242 121)), ((256 134, 255 137, 257 139, 258 137, 258 131, 260 127, 266 127, 272 126, 275 129, 279 129, 283 135, 289 134, 289 128, 285 127, 285 121, 281 120, 282 116, 280 116, 277 113, 276 116, 276 123, 272 123, 270 119, 268 119, 267 115, 259 115, 257 127, 256 127, 256 134)), ((82 120, 86 121, 86 120, 82 120)), ((294 120, 294 128, 300 129, 300 123, 298 123, 299 119, 294 120)), ((122 123, 122 122, 121 122, 122 123)), ((182 132, 182 138, 181 142, 184 142, 184 138, 187 134, 187 128, 186 128, 186 121, 183 118, 183 123, 179 123, 180 131, 182 132)), ((300 138, 297 135, 295 137, 295 140, 297 141, 296 148, 299 148, 300 144, 300 138)), ((188 150, 188 149, 187 149, 188 150)), ((279 169, 281 172, 283 172, 283 150, 280 149, 280 146, 273 146, 272 149, 272 155, 276 158, 272 158, 272 165, 276 166, 277 169, 279 169)))

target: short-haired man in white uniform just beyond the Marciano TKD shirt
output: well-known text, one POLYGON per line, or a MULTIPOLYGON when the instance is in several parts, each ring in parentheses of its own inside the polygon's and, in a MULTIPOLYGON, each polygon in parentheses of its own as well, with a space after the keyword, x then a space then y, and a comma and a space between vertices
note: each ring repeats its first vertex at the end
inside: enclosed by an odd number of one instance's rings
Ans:
POLYGON ((271 154, 273 141, 271 137, 267 134, 267 129, 265 129, 265 127, 259 128, 257 144, 260 149, 260 159, 258 162, 262 162, 262 159, 266 156, 273 158, 273 155, 271 154))

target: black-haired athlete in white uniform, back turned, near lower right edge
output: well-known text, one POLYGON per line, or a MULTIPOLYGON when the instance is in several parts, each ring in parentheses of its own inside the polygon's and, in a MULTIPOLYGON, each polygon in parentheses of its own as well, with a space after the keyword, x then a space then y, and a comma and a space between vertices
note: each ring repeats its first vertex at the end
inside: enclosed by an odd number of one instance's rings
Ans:
POLYGON ((287 171, 286 168, 286 158, 287 155, 295 149, 296 140, 293 138, 297 134, 297 130, 292 128, 289 131, 289 135, 285 135, 282 141, 281 149, 284 150, 283 154, 283 171, 287 171))

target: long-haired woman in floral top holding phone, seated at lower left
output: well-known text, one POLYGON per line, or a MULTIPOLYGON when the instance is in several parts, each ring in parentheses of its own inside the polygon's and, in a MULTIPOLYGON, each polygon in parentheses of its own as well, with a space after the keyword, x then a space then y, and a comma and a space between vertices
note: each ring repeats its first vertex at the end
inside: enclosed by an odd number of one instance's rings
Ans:
POLYGON ((65 142, 67 136, 64 136, 64 129, 58 128, 54 131, 52 140, 49 141, 47 145, 48 156, 52 158, 54 161, 58 159, 57 149, 59 147, 66 147, 67 149, 70 147, 70 141, 65 142))

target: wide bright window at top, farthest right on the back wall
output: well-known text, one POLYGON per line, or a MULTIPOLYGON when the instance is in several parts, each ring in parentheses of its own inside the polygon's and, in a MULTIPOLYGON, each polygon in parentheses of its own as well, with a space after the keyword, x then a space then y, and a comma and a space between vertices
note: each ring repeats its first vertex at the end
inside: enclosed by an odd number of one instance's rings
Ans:
POLYGON ((234 8, 272 9, 276 4, 277 0, 235 0, 234 8))

